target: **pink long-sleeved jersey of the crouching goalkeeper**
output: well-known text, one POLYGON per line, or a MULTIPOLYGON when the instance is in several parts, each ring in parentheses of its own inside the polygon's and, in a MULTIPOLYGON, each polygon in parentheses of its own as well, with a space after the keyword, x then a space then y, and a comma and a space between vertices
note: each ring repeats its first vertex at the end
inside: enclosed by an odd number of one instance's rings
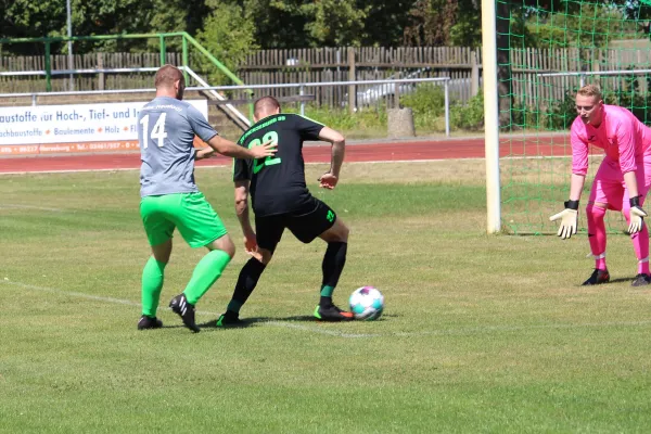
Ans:
POLYGON ((588 173, 588 145, 605 151, 605 157, 620 164, 622 174, 637 170, 637 163, 651 157, 651 128, 630 111, 617 105, 603 106, 598 128, 585 125, 579 116, 572 123, 572 173, 588 173))

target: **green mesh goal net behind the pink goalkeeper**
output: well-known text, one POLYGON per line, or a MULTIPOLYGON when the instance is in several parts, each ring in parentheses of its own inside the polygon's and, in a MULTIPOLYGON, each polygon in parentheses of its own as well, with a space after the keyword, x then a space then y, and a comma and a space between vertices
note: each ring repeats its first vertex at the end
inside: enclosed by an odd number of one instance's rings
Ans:
MULTIPOLYGON (((601 87, 604 102, 651 122, 651 7, 640 1, 496 0, 501 228, 552 233, 567 200, 574 95, 601 87)), ((586 191, 603 154, 592 150, 586 191)), ((610 231, 622 218, 609 213, 610 231)), ((579 221, 585 230, 585 221, 579 221)))

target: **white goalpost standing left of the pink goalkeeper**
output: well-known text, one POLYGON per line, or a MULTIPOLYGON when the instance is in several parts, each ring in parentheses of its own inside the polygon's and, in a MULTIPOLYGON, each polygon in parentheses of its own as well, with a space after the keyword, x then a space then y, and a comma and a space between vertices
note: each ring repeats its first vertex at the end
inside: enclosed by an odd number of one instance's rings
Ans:
POLYGON ((487 233, 497 233, 501 229, 496 21, 495 0, 482 0, 482 66, 484 72, 487 233))

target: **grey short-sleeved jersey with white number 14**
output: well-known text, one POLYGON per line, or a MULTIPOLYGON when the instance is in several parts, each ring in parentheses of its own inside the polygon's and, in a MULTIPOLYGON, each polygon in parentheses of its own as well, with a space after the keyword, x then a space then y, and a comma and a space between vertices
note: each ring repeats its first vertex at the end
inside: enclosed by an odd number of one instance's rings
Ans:
POLYGON ((207 142, 217 131, 192 104, 157 97, 138 115, 140 196, 199 191, 194 183, 194 136, 207 142))

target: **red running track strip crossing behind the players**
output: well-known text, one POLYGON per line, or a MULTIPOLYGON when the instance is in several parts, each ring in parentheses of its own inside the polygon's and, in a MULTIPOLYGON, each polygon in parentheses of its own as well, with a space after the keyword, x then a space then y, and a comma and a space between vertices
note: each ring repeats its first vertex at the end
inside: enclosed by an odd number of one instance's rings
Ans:
MULTIPOLYGON (((565 136, 511 138, 500 141, 500 156, 561 156, 567 155, 565 136)), ((306 163, 329 163, 330 145, 309 145, 303 149, 306 163)), ((397 141, 350 144, 346 146, 346 162, 395 162, 418 159, 483 158, 484 139, 452 139, 427 141, 397 141)), ((221 155, 200 161, 197 166, 225 166, 231 159, 221 155)), ((136 169, 140 167, 138 153, 97 153, 0 158, 0 174, 38 171, 77 171, 136 169)))

